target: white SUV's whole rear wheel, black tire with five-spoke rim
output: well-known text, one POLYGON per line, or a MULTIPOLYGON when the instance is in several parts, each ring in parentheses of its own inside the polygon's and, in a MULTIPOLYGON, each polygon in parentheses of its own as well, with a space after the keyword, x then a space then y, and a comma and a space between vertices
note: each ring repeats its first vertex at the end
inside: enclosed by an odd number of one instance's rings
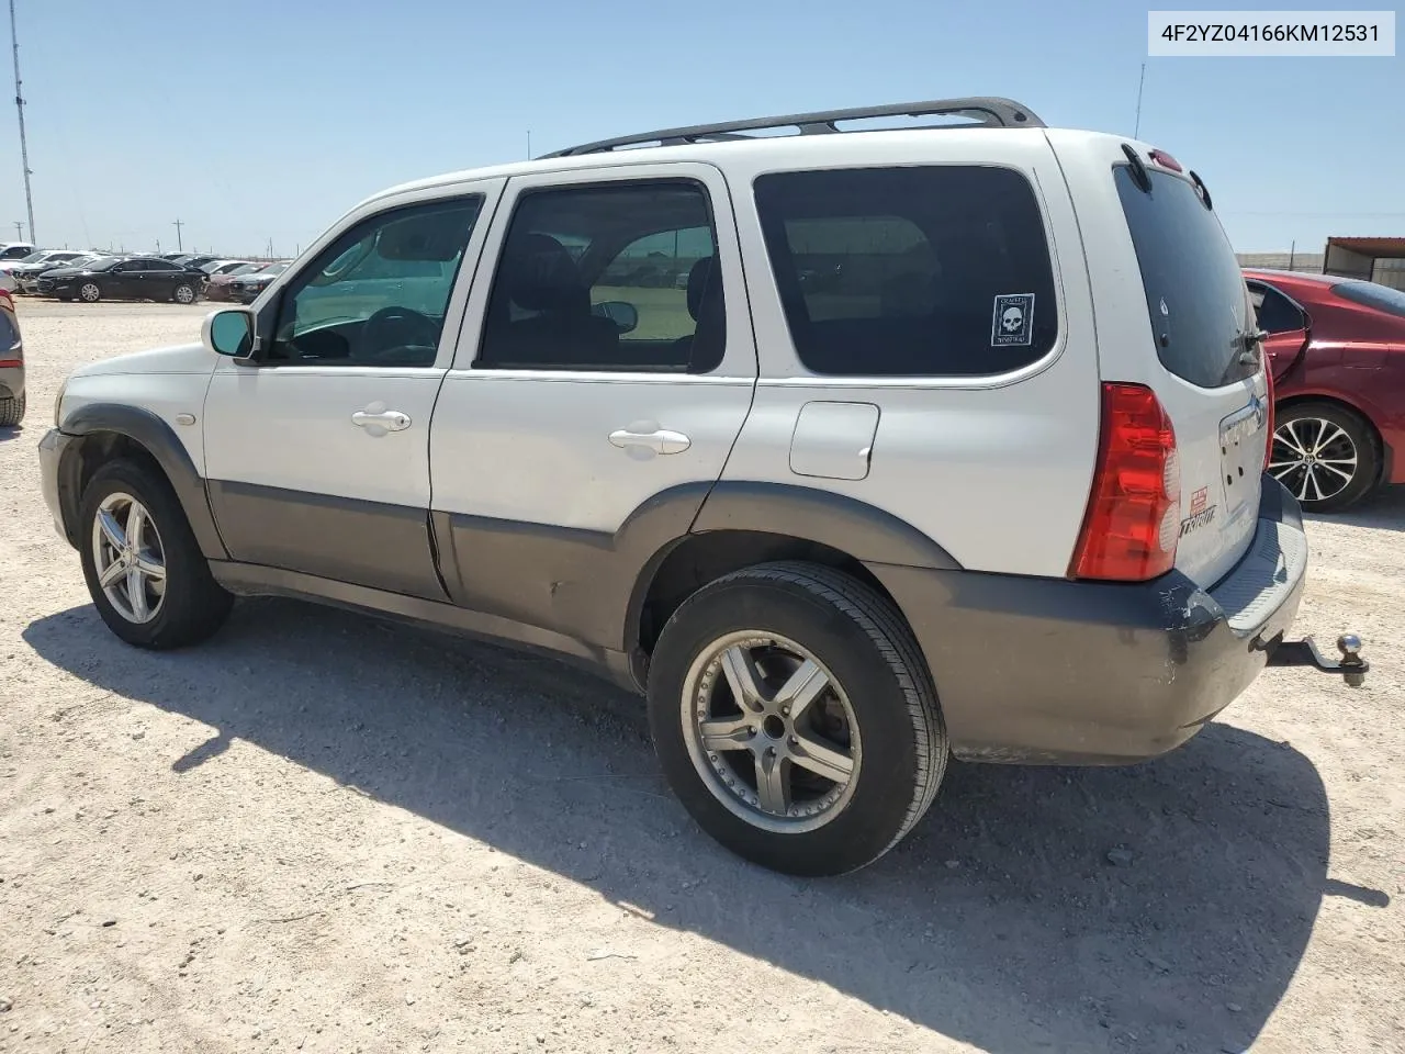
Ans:
POLYGON ((922 818, 946 773, 946 728, 917 642, 892 604, 830 568, 763 564, 700 589, 663 627, 648 694, 655 750, 684 808, 726 849, 776 871, 836 876, 873 863, 922 818), (746 711, 729 672, 739 666, 721 655, 742 655, 756 677, 759 701, 746 711), (792 715, 778 686, 805 670, 823 687, 797 693, 792 715), (821 776, 816 763, 847 779, 821 776), (770 802, 763 773, 776 776, 770 802))

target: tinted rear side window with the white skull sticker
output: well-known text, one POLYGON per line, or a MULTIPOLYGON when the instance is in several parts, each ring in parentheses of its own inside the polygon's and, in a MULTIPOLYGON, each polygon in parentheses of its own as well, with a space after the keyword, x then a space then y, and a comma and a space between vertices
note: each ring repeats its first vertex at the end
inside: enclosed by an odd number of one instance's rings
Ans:
POLYGON ((756 180, 795 353, 816 374, 982 377, 1058 337, 1044 219, 1009 169, 929 166, 756 180))

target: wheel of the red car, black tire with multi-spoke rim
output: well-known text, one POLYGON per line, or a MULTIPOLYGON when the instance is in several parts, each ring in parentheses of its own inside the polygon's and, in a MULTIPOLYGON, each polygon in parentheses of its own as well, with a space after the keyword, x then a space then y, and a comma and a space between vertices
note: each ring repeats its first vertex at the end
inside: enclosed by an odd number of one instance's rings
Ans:
POLYGON ((1380 445, 1354 410, 1335 402, 1300 402, 1277 413, 1269 472, 1307 512, 1339 512, 1375 489, 1380 445), (1350 478, 1343 478, 1347 471, 1350 478))

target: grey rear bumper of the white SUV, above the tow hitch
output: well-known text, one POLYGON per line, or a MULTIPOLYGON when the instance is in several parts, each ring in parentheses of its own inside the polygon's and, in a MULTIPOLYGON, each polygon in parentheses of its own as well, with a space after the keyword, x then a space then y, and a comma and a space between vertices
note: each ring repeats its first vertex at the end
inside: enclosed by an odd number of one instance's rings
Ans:
POLYGON ((1266 478, 1255 545, 1213 590, 1175 571, 1138 585, 871 571, 917 635, 955 756, 1117 765, 1175 749, 1259 676, 1302 597, 1301 533, 1266 478))

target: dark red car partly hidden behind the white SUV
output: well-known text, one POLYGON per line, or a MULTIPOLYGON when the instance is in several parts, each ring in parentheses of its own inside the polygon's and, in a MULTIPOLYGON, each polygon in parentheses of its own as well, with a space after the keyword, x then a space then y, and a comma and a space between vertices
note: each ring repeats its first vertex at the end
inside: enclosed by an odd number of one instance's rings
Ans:
POLYGON ((1243 277, 1269 334, 1269 471, 1314 512, 1405 483, 1405 292, 1329 274, 1243 277))

